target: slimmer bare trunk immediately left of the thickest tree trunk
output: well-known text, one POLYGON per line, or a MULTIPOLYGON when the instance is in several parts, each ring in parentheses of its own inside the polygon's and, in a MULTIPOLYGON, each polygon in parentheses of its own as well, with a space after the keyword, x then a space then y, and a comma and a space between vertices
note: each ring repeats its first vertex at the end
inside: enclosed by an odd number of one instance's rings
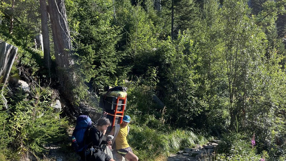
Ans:
POLYGON ((46 68, 50 69, 51 67, 51 54, 50 54, 50 39, 49 39, 49 28, 48 28, 48 15, 46 0, 40 0, 40 9, 41 9, 41 29, 43 35, 43 51, 44 51, 44 61, 46 68))

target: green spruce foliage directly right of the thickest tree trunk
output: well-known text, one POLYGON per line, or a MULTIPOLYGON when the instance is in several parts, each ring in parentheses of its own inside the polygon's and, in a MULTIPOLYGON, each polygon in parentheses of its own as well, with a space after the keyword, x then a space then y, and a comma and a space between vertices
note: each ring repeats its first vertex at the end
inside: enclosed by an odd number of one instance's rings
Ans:
POLYGON ((124 53, 115 50, 120 29, 111 23, 111 4, 111 1, 67 1, 70 28, 77 32, 71 35, 79 42, 75 49, 77 71, 95 89, 102 89, 126 72, 116 70, 124 53))

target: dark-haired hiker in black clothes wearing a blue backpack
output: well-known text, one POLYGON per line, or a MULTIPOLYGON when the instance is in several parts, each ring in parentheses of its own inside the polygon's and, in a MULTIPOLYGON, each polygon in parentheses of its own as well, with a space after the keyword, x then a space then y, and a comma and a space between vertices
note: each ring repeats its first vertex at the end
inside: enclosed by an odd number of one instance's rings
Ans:
POLYGON ((86 115, 77 118, 77 125, 72 134, 72 146, 83 161, 115 161, 102 150, 102 144, 112 144, 104 141, 104 135, 110 120, 101 117, 97 120, 97 126, 93 126, 91 119, 86 115))

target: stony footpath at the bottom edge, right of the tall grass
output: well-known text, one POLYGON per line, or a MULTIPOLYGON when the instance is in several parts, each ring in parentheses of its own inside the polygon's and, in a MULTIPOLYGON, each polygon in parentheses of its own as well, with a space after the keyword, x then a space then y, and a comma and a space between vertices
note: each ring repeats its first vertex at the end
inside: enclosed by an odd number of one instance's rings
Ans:
POLYGON ((211 161, 215 148, 220 140, 212 140, 206 145, 196 145, 194 148, 184 148, 177 154, 171 154, 168 161, 211 161))

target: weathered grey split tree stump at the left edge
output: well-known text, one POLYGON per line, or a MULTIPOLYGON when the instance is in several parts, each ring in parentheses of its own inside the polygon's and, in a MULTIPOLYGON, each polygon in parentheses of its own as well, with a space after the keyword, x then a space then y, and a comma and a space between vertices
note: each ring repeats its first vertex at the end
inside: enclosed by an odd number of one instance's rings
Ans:
POLYGON ((7 100, 3 95, 3 89, 9 77, 11 68, 16 58, 18 48, 0 40, 0 86, 1 98, 4 101, 4 107, 8 109, 7 100))

